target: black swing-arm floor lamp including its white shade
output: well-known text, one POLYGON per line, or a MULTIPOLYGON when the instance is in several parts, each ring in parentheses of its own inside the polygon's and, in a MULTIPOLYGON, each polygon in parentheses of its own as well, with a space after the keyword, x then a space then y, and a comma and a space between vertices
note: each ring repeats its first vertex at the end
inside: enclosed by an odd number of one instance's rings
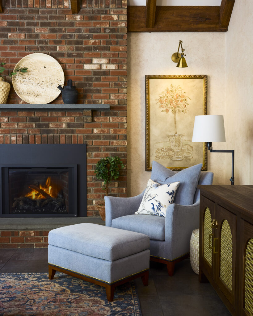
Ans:
POLYGON ((229 179, 231 185, 235 184, 234 159, 235 151, 226 149, 213 149, 212 142, 225 142, 224 119, 222 115, 198 115, 195 116, 192 142, 206 142, 210 153, 232 154, 232 176, 229 179))

